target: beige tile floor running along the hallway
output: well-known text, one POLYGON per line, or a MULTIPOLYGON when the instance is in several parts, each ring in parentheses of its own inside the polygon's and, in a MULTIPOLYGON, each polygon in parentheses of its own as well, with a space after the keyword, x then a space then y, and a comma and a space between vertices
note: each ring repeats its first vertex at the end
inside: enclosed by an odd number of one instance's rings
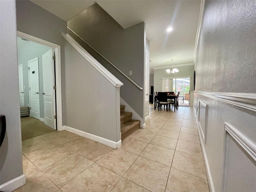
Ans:
POLYGON ((70 132, 22 141, 26 184, 15 192, 209 192, 192 108, 154 110, 113 149, 70 132))

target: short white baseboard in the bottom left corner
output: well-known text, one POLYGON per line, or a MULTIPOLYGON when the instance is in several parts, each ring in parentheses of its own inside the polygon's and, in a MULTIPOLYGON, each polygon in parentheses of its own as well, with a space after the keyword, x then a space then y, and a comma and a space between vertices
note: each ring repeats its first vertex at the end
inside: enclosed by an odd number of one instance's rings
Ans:
POLYGON ((26 176, 25 174, 14 178, 2 185, 0 185, 0 190, 4 192, 12 192, 19 187, 23 186, 26 183, 26 176))

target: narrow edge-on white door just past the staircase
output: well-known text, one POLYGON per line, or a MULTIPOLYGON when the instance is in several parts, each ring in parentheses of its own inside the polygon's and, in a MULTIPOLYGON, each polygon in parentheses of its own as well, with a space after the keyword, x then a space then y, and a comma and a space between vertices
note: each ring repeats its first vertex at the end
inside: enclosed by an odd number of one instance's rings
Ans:
POLYGON ((149 52, 145 58, 145 116, 149 115, 149 52))

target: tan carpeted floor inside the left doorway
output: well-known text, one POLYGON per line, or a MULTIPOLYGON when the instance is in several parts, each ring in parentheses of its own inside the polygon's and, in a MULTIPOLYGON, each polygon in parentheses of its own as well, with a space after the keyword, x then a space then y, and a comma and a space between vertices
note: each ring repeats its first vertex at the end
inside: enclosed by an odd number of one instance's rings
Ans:
POLYGON ((32 117, 22 117, 21 118, 21 138, 22 141, 30 139, 36 136, 40 136, 46 133, 53 132, 52 128, 46 126, 44 122, 32 118, 32 117))

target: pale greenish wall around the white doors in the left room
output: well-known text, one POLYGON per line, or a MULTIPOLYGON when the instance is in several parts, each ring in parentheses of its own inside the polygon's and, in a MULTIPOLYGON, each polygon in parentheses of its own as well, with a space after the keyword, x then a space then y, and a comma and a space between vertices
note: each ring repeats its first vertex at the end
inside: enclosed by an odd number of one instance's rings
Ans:
POLYGON ((40 117, 44 118, 44 95, 42 95, 44 92, 42 55, 51 48, 32 41, 25 43, 22 43, 21 41, 22 40, 18 38, 18 65, 22 64, 23 66, 23 83, 25 86, 24 106, 29 106, 28 61, 38 57, 40 117))

